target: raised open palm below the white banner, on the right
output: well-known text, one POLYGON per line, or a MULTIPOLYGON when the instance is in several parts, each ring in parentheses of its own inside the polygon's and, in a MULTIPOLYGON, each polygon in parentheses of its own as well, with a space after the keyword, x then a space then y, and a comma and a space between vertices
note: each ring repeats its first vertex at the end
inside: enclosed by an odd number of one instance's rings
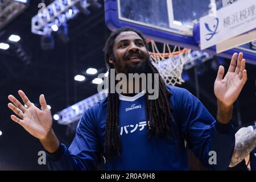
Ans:
POLYGON ((223 66, 218 68, 217 78, 214 82, 214 94, 218 101, 221 101, 226 106, 231 106, 237 100, 237 97, 239 96, 243 85, 245 85, 247 80, 245 59, 243 59, 243 54, 240 53, 238 56, 237 53, 233 54, 229 70, 223 78, 224 71, 223 66))

